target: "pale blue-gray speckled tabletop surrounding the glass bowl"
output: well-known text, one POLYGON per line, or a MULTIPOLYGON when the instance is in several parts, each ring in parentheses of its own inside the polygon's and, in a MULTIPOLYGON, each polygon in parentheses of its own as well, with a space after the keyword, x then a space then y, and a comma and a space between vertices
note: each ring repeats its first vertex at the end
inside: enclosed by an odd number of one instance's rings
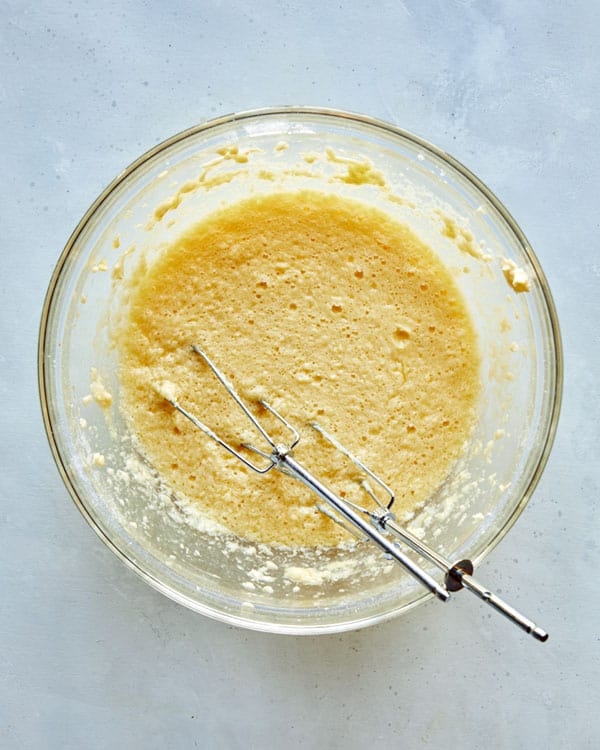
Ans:
POLYGON ((0 746, 598 747, 597 3, 0 8, 0 746), (63 488, 35 356, 70 231, 142 151, 273 104, 360 111, 435 142, 536 249, 562 323, 563 413, 534 499, 479 572, 548 643, 466 594, 340 636, 226 627, 126 570, 63 488))

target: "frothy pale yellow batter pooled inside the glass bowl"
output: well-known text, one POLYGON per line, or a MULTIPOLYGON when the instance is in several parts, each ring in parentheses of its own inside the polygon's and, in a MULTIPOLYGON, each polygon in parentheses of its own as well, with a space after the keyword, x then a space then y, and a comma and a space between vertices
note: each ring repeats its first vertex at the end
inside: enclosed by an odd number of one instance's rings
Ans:
POLYGON ((303 485, 247 470, 159 395, 174 384, 223 438, 262 447, 191 344, 240 395, 294 424, 296 458, 356 502, 361 477, 310 423, 392 486, 400 516, 431 497, 469 436, 479 357, 465 304, 433 252, 375 209, 308 191, 248 199, 198 224, 134 282, 118 338, 131 427, 176 492, 240 536, 347 538, 303 485))

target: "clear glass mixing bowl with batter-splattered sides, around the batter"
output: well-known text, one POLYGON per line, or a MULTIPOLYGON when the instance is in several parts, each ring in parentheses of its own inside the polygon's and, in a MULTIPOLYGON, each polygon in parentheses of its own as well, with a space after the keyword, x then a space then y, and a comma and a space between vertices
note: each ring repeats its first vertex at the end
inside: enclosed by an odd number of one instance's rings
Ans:
POLYGON ((411 529, 453 561, 479 562, 525 507, 548 458, 562 387, 559 328, 540 264, 508 211, 461 164, 410 133, 356 114, 295 107, 223 117, 156 146, 106 188, 69 239, 46 296, 38 354, 50 446, 98 536, 181 604, 294 634, 363 627, 431 595, 366 543, 315 557, 251 544, 198 519, 191 524, 128 443, 110 330, 126 307, 121 282, 136 257, 151 262, 224 204, 307 187, 408 224, 465 297, 482 358, 477 425, 411 529), (112 394, 105 408, 90 396, 94 380, 112 394), (291 582, 290 565, 337 573, 291 582))

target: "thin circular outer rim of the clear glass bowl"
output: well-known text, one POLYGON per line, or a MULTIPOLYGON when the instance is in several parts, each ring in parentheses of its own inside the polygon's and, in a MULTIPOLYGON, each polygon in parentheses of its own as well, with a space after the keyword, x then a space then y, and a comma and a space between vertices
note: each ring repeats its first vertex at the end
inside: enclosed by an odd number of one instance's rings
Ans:
POLYGON ((560 333, 560 326, 558 322, 558 315, 556 306, 548 281, 542 270, 542 267, 531 247, 525 234, 517 224, 516 220, 504 204, 496 197, 496 195, 485 185, 473 172, 465 167, 462 162, 455 159, 453 156, 448 154, 443 149, 439 148, 430 141, 421 138, 420 136, 414 135, 408 130, 397 127, 396 125, 386 122, 375 117, 368 115, 359 114, 352 111, 341 110, 336 108, 328 107, 314 107, 309 105, 283 105, 276 107, 263 107, 257 109, 243 110, 240 112, 234 112, 227 115, 222 115, 217 118, 206 120, 204 122, 193 125, 185 130, 176 133, 173 136, 161 141, 149 150, 145 151, 141 156, 131 162, 122 172, 120 172, 98 195, 93 201, 87 211, 84 213, 82 218, 79 220, 77 226, 72 231, 67 243, 65 244, 54 268, 48 289, 44 297, 44 303, 42 306, 42 313, 39 324, 38 333, 38 349, 37 349, 37 374, 38 374, 38 395, 40 399, 40 406, 42 410, 42 416, 44 421, 44 429, 54 462, 57 466, 59 474, 65 484, 75 506, 78 508, 80 513, 83 515, 85 520, 96 532, 100 539, 106 544, 106 546, 121 560, 127 567, 137 573, 143 580, 150 584, 154 589, 160 591, 168 598, 186 606, 187 608, 198 612, 200 614, 211 617, 212 619, 225 622, 229 625, 236 625, 244 627, 246 629, 276 633, 276 634, 288 634, 288 635, 321 635, 327 633, 339 633, 350 630, 357 630, 364 628, 375 623, 385 622, 390 620, 402 612, 407 612, 422 602, 433 597, 433 594, 429 592, 423 592, 423 594, 408 604, 403 604, 399 607, 394 607, 385 612, 378 613, 376 615, 369 615, 359 620, 345 620, 341 623, 329 623, 329 624, 290 624, 290 623, 269 623, 268 621, 255 620, 246 618, 240 615, 234 615, 224 613, 216 609, 212 609, 208 605, 202 604, 186 595, 172 589, 169 585, 158 579, 156 576, 149 573, 143 566, 138 562, 129 557, 120 547, 110 538, 110 536, 104 531, 103 528, 97 523, 93 515, 88 510, 85 502, 77 493, 73 483, 71 482, 69 472, 67 470, 66 462, 63 460, 61 455, 58 441, 54 434, 54 426, 49 408, 49 399, 47 393, 47 382, 48 382, 48 368, 46 367, 46 345, 48 340, 48 323, 50 318, 50 311, 52 309, 55 293, 57 290, 58 283, 61 279, 63 269, 69 258, 73 248, 75 247, 77 240, 88 225, 91 218, 97 212, 97 210, 103 205, 107 198, 122 184, 124 183, 137 169, 139 169, 146 162, 153 159, 155 156, 163 151, 167 151, 169 148, 177 143, 181 143, 188 138, 197 136, 200 133, 209 131, 215 128, 222 127, 224 125, 231 125, 236 122, 242 122, 249 119, 257 119, 261 117, 277 117, 285 115, 297 115, 297 116, 316 116, 333 119, 343 119, 351 123, 356 123, 359 126, 368 126, 377 130, 383 131, 394 137, 400 137, 406 141, 409 141, 413 145, 428 151, 434 157, 445 162, 458 172, 467 182, 471 183, 493 206, 498 212, 501 219, 506 222, 509 230, 512 232, 523 252, 525 253, 529 263, 533 267, 537 278, 540 281, 541 296, 545 305, 545 310, 550 322, 550 331, 552 335, 552 344, 554 348, 554 368, 552 374, 552 384, 554 386, 554 393, 551 402, 551 414, 547 423, 546 434, 543 442, 540 446, 539 458, 532 468, 531 476, 529 481, 522 493, 520 501, 515 505, 510 515, 506 518, 504 524, 496 531, 492 539, 489 540, 484 549, 482 549, 477 556, 473 558, 473 563, 478 564, 496 547, 497 544, 506 536, 508 531, 512 528, 516 520, 523 512, 525 506, 529 502, 531 495, 537 487, 543 471, 548 462, 556 431, 558 427, 558 420, 560 415, 563 384, 564 384, 564 363, 563 363, 563 346, 560 333))

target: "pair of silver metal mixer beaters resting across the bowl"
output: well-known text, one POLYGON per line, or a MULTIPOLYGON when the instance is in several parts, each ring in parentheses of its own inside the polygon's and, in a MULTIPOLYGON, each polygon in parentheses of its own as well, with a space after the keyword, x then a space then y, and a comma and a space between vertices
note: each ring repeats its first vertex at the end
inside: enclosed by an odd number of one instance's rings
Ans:
POLYGON ((482 586, 478 581, 473 578, 473 563, 470 560, 460 560, 459 562, 452 563, 445 557, 440 555, 437 551, 425 544, 421 539, 411 534, 410 531, 404 529, 396 522, 394 513, 392 512, 392 506, 394 504, 394 493, 393 491, 380 479, 374 472, 372 472, 367 466, 365 466, 356 456, 350 451, 344 448, 332 435, 328 434, 320 427, 317 423, 313 423, 313 427, 325 440, 331 443, 337 450, 339 450, 344 456, 352 461, 367 478, 361 482, 361 487, 364 492, 374 501, 375 508, 369 509, 364 508, 356 503, 350 502, 347 499, 342 499, 339 495, 336 495, 324 484, 322 484, 317 477, 311 474, 310 471, 304 468, 302 464, 298 463, 293 457, 293 450, 300 441, 300 435, 298 431, 279 414, 269 403, 266 401, 259 401, 259 403, 272 414, 279 422, 285 427, 285 429, 291 435, 291 442, 289 444, 277 443, 272 436, 266 431, 256 417, 250 412, 246 404, 242 401, 234 387, 227 380, 225 375, 219 370, 219 368, 212 362, 206 352, 200 347, 193 345, 192 349, 198 354, 204 362, 210 367, 214 375, 225 387, 229 395, 243 410, 244 414, 248 417, 251 423, 254 425, 256 430, 264 438, 269 451, 261 450, 254 445, 244 443, 243 448, 252 453, 261 456, 265 459, 263 465, 259 465, 250 461, 246 456, 242 455, 232 445, 222 440, 213 430, 207 425, 201 422, 197 417, 187 411, 178 402, 174 394, 162 393, 163 398, 168 401, 180 414, 186 419, 189 419, 199 430, 204 432, 205 435, 212 438, 216 443, 225 448, 229 453, 233 454, 238 458, 245 466, 258 474, 266 474, 271 469, 277 469, 278 471, 288 476, 294 477, 306 485, 310 490, 317 494, 323 504, 319 504, 317 507, 320 511, 328 515, 337 523, 340 523, 348 531, 359 536, 359 538, 366 538, 375 544, 377 544, 385 553, 388 558, 392 558, 400 565, 404 566, 409 573, 411 573, 418 581, 420 581, 429 591, 434 593, 438 599, 447 601, 450 598, 450 592, 459 591, 461 588, 465 588, 478 596, 486 604, 489 604, 497 612, 500 612, 509 620, 514 622, 526 633, 529 633, 538 641, 546 641, 548 639, 548 633, 542 628, 538 627, 534 622, 524 617, 522 614, 517 612, 516 609, 511 607, 509 604, 504 602, 500 597, 493 594, 485 586, 482 586), (371 480, 379 489, 387 496, 387 501, 382 502, 373 490, 371 480), (417 565, 411 558, 402 551, 399 545, 399 541, 406 544, 414 552, 417 552, 421 557, 428 560, 437 566, 444 573, 444 583, 438 583, 429 573, 423 570, 417 565))

